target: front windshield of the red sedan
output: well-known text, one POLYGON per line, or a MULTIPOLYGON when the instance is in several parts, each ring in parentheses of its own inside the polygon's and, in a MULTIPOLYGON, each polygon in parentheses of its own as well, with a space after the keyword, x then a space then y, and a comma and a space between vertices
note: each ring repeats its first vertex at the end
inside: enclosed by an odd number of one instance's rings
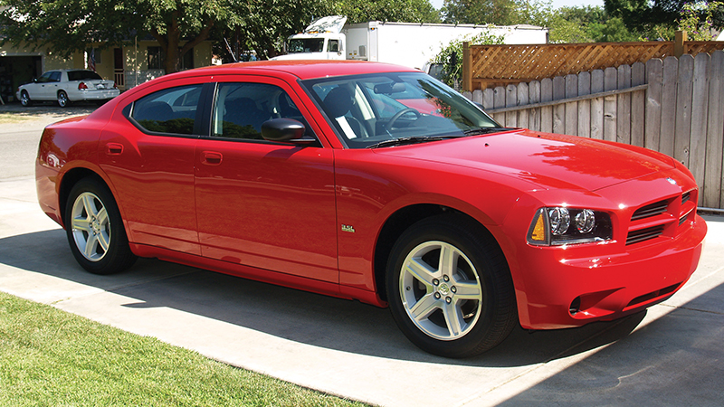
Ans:
POLYGON ((304 80, 349 148, 466 137, 500 128, 470 100, 420 72, 304 80), (400 143, 388 141, 400 140, 400 143))

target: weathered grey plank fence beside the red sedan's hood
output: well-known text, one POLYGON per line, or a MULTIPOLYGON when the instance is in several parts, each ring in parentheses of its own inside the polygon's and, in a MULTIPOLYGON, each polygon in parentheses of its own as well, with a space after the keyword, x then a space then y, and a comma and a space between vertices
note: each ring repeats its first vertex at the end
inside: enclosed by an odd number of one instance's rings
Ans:
POLYGON ((724 52, 465 92, 508 127, 651 148, 691 169, 704 207, 724 209, 724 52))

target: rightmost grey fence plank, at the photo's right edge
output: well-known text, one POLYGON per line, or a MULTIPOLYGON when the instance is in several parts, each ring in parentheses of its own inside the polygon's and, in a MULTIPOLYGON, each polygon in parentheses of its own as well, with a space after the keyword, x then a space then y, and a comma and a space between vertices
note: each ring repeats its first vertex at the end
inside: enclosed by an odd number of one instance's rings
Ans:
POLYGON ((707 118, 707 157, 704 174, 704 206, 724 206, 724 52, 711 54, 709 82, 709 114, 707 118))

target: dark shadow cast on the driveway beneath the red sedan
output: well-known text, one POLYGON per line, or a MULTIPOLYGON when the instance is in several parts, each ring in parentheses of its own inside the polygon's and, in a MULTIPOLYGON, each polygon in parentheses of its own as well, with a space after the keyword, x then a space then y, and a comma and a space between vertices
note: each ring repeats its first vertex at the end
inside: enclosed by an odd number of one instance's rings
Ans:
POLYGON ((75 262, 61 229, 6 237, 0 239, 0 248, 0 263, 135 299, 123 307, 174 308, 302 344, 414 362, 481 367, 540 364, 629 336, 645 316, 643 311, 614 322, 532 334, 517 327, 491 351, 451 360, 412 345, 387 309, 357 301, 154 259, 139 259, 116 275, 97 276, 75 262))

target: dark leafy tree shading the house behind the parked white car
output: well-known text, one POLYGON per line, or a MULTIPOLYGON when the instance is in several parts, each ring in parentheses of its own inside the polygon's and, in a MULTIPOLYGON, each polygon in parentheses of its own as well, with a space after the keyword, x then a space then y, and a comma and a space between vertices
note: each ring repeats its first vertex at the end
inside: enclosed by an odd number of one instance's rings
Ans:
MULTIPOLYGON (((239 19, 233 0, 0 0, 2 43, 51 48, 68 57, 90 43, 102 47, 130 43, 151 34, 166 54, 167 73, 196 44, 209 38, 214 24, 239 19), (181 43, 186 43, 181 46, 181 43)), ((101 47, 101 48, 102 48, 101 47)))

